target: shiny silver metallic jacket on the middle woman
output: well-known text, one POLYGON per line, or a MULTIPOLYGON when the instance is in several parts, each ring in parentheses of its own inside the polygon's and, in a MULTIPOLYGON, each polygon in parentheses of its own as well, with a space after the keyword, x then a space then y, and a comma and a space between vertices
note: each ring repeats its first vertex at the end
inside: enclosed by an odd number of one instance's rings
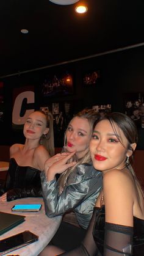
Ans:
POLYGON ((87 229, 102 188, 101 172, 94 169, 92 163, 76 166, 60 195, 56 180, 47 181, 45 172, 40 176, 46 215, 52 218, 73 209, 79 225, 87 229))

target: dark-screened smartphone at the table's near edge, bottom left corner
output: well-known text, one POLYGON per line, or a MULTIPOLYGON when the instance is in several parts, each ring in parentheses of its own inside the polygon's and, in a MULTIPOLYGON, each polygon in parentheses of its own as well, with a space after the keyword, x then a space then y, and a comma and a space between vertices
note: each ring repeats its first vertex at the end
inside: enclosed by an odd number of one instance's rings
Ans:
POLYGON ((8 238, 0 240, 0 255, 15 251, 16 249, 20 249, 21 247, 27 246, 27 244, 34 243, 35 241, 38 241, 38 236, 29 230, 9 236, 8 238))

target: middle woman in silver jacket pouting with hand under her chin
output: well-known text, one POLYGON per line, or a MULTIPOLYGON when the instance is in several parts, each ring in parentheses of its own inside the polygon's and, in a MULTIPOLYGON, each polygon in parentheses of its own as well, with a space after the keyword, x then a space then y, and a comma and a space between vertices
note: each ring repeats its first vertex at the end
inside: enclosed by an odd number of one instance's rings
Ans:
POLYGON ((65 136, 68 155, 50 167, 49 160, 46 161, 45 172, 41 173, 46 214, 49 217, 65 214, 65 221, 52 239, 52 243, 64 249, 81 243, 101 190, 102 175, 93 168, 89 152, 96 119, 98 114, 92 109, 75 115, 65 136), (58 181, 57 174, 60 174, 58 181))

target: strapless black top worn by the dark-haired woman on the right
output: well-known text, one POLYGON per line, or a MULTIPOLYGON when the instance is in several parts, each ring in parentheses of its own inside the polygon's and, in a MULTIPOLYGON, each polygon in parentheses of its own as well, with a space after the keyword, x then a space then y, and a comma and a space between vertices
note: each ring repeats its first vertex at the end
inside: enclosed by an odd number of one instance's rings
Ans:
MULTIPOLYGON (((101 208, 95 207, 94 213, 95 214, 95 224, 93 226, 93 238, 95 240, 96 246, 98 247, 98 250, 103 255, 103 249, 104 249, 104 235, 106 236, 106 223, 105 223, 105 207, 104 205, 101 208)), ((113 224, 113 226, 116 226, 117 230, 113 229, 111 224, 111 231, 113 231, 113 234, 115 238, 117 235, 120 235, 120 232, 123 233, 123 236, 121 235, 121 240, 128 239, 127 235, 131 235, 131 230, 133 232, 132 235, 132 255, 134 256, 143 256, 144 255, 144 220, 134 217, 134 229, 131 227, 126 227, 122 225, 116 225, 113 224), (130 230, 130 231, 129 231, 130 230), (115 232, 117 231, 117 232, 115 232), (114 233, 115 232, 115 233, 114 233)), ((114 227, 115 228, 115 227, 114 227)), ((107 236, 110 238, 110 233, 107 233, 107 236)), ((111 238, 114 240, 113 236, 111 238)), ((120 238, 119 238, 120 239, 120 238)), ((106 240, 106 237, 105 237, 106 240)), ((116 239, 117 240, 117 239, 116 239)), ((109 241, 109 243, 111 243, 109 241)), ((113 254, 112 254, 113 255, 113 254)), ((117 254, 115 254, 117 255, 117 254)), ((123 254, 121 254, 123 255, 123 254)), ((129 255, 129 254, 126 254, 129 255)))

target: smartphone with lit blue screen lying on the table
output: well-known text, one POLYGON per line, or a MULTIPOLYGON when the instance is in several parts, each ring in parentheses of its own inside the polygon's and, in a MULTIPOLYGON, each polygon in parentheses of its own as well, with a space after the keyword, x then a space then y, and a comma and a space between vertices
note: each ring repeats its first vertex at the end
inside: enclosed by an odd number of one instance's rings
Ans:
POLYGON ((41 210, 41 203, 33 204, 20 204, 20 205, 13 205, 12 211, 40 211, 41 210))

